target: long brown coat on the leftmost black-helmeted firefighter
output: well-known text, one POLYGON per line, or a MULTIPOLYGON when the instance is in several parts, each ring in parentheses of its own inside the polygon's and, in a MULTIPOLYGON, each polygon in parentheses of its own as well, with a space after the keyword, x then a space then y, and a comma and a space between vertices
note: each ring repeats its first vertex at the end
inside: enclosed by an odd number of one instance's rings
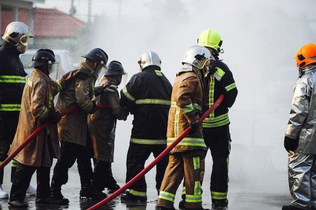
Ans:
MULTIPOLYGON (((29 76, 23 90, 17 131, 8 155, 11 155, 33 131, 45 123, 48 109, 55 111, 54 96, 61 89, 58 84, 59 82, 52 81, 36 68, 29 76)), ((60 158, 56 124, 49 124, 40 131, 14 159, 27 166, 50 167, 52 158, 60 158)))

